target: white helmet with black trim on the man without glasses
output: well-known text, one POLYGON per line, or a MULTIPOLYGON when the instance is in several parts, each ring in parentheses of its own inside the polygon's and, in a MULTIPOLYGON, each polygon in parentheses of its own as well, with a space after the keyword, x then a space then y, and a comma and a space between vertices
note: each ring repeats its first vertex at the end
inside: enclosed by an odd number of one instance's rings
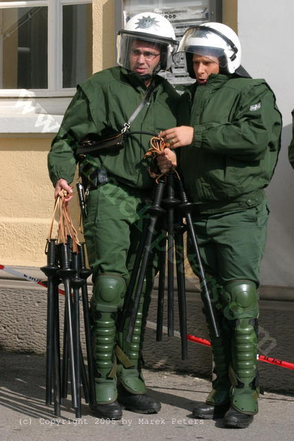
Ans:
POLYGON ((222 23, 203 23, 189 28, 182 36, 174 62, 179 63, 186 54, 187 72, 195 78, 193 72, 193 54, 203 57, 218 57, 220 70, 233 74, 241 64, 241 44, 238 35, 222 23))

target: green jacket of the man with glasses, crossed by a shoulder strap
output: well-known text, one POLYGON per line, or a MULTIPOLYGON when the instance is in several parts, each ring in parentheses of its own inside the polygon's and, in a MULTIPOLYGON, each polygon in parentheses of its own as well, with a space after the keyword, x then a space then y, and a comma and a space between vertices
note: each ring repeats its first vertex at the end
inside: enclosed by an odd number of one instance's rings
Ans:
MULTIPOLYGON (((145 105, 131 131, 147 131, 157 134, 176 125, 178 94, 162 77, 154 75, 156 88, 149 105, 145 105)), ((52 183, 59 178, 71 183, 76 170, 74 150, 89 134, 106 139, 120 132, 146 93, 140 77, 123 68, 110 68, 94 74, 85 83, 78 85, 60 130, 48 154, 48 169, 52 183)), ((149 149, 150 135, 127 136, 126 145, 116 153, 87 155, 83 161, 94 167, 103 167, 117 181, 137 188, 151 187, 149 161, 143 156, 149 149)))

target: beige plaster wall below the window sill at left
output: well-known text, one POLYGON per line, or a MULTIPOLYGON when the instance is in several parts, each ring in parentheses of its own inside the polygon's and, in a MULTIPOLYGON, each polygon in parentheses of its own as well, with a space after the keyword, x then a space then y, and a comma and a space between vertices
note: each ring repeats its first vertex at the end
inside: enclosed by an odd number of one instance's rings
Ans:
MULTIPOLYGON (((51 139, 0 139, 0 263, 39 267, 53 214, 54 195, 48 178, 51 139)), ((72 220, 78 221, 76 200, 72 220)), ((55 231, 54 231, 55 232, 55 231)))

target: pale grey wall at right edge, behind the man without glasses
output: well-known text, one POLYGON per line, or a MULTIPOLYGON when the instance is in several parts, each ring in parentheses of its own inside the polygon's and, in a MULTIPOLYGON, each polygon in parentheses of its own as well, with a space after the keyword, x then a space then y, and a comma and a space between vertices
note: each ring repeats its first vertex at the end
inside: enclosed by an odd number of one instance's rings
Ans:
POLYGON ((282 112, 282 149, 273 181, 267 189, 271 215, 262 283, 294 286, 294 172, 288 162, 292 136, 294 1, 239 0, 238 34, 242 64, 255 78, 264 78, 277 97, 282 112))

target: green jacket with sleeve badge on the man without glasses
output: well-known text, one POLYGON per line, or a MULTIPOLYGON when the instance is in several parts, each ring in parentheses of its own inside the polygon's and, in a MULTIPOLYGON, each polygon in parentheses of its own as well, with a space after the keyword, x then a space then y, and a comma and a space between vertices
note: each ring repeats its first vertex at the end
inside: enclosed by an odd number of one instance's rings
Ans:
POLYGON ((178 125, 194 128, 193 143, 178 150, 185 187, 200 211, 257 205, 280 150, 282 118, 269 85, 211 74, 205 86, 188 86, 178 114, 178 125))

